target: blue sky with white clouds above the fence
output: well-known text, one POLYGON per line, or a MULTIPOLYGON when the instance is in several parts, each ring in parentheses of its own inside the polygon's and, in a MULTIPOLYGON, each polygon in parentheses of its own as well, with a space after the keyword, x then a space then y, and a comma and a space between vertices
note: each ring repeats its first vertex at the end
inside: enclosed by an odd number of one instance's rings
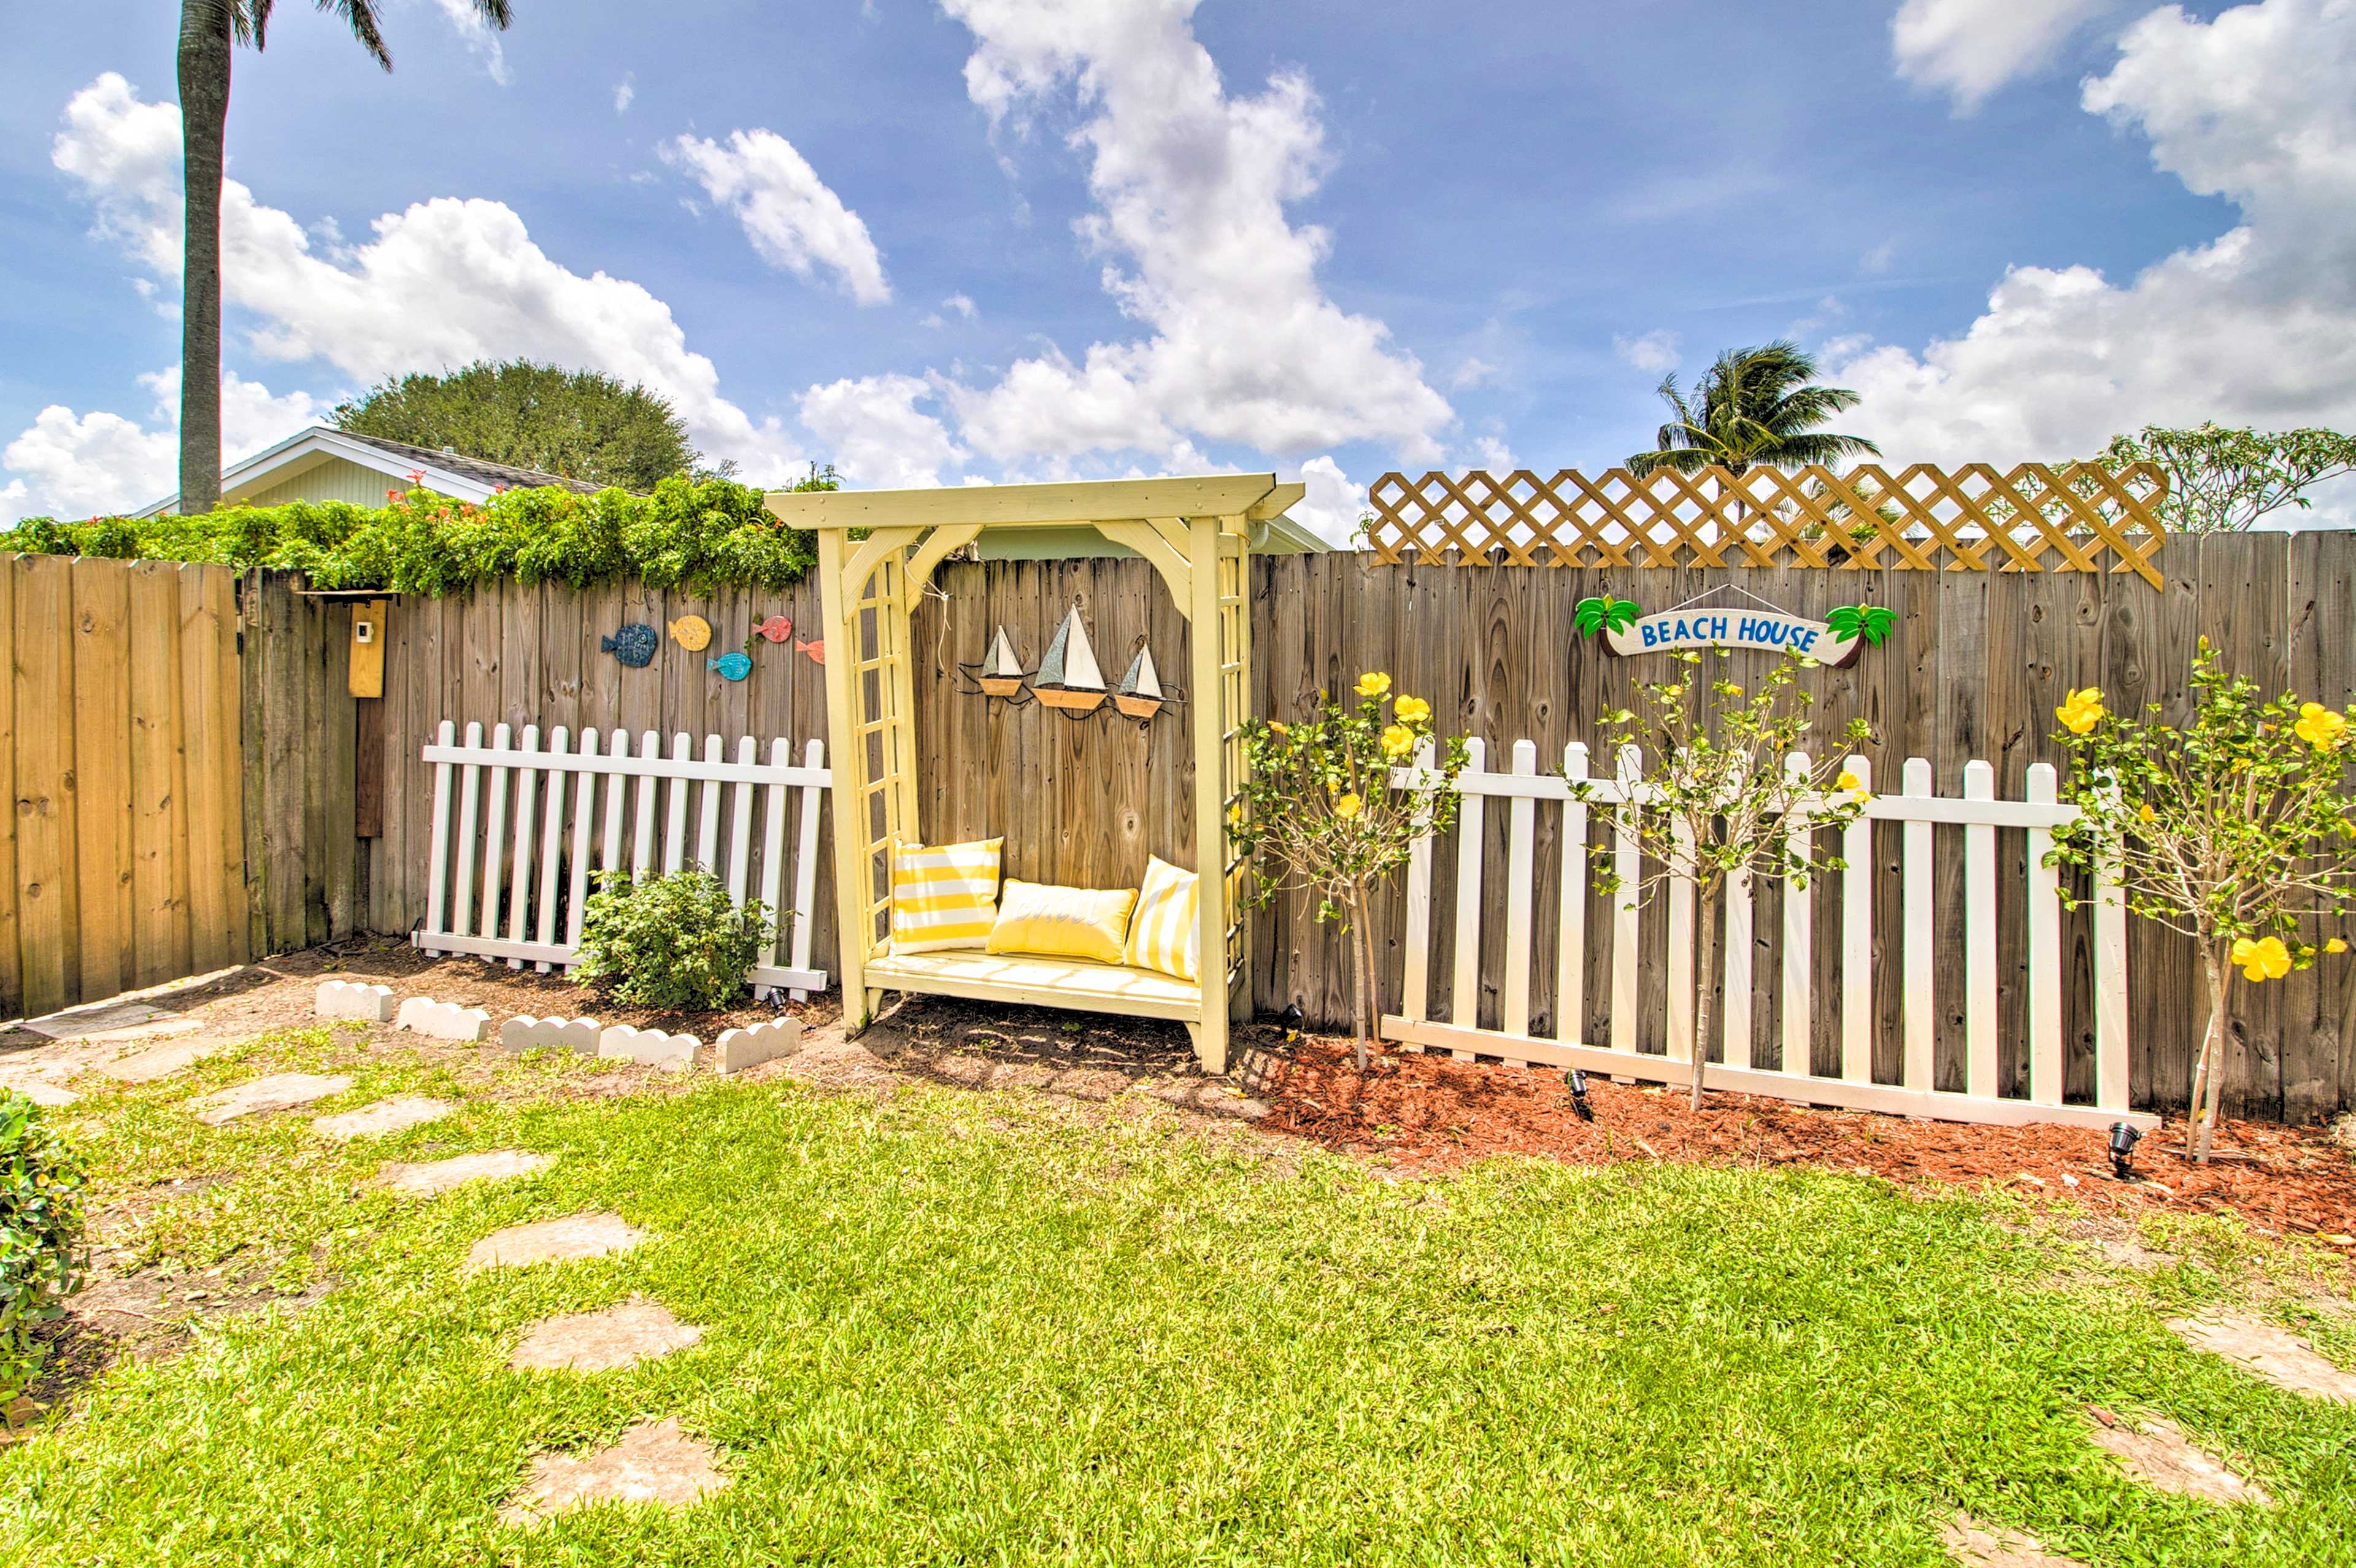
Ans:
MULTIPOLYGON (((2356 0, 464 9, 238 54, 231 454, 530 353, 756 483, 1277 466, 1338 525, 1779 334, 1901 461, 2356 424, 2356 0)), ((14 19, 0 516, 170 490, 174 16, 14 19)))

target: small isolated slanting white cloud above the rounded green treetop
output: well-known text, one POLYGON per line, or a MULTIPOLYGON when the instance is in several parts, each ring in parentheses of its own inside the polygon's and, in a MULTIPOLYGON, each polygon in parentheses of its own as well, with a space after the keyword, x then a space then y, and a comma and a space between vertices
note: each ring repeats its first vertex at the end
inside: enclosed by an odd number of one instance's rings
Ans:
POLYGON ((832 271, 860 304, 886 304, 884 257, 860 214, 843 205, 810 160, 770 129, 730 132, 728 146, 679 137, 662 160, 683 170, 744 224, 744 238, 770 266, 796 278, 832 271))

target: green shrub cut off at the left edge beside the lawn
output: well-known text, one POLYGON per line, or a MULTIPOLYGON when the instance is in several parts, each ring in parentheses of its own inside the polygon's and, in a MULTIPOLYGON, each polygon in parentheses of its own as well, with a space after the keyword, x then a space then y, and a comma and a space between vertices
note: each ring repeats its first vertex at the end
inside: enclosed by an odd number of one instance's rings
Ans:
POLYGON ((80 1288, 82 1163, 40 1107, 0 1090, 0 1401, 40 1370, 33 1328, 80 1288))

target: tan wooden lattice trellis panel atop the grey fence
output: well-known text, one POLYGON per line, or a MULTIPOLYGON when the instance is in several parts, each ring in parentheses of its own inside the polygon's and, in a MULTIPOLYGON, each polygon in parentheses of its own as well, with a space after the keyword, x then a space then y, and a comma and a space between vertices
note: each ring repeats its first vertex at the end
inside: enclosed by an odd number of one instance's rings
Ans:
POLYGON ((2158 589, 2165 494, 2158 464, 1385 473, 1366 494, 1366 546, 1385 565, 1414 551, 1451 565, 2135 572, 2158 589))

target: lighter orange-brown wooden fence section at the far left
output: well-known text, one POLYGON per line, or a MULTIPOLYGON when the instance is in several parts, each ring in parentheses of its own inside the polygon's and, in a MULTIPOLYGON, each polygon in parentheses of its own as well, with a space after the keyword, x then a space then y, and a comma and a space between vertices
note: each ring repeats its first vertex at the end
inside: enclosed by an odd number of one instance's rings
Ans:
POLYGON ((0 556, 0 1017, 247 956, 236 577, 0 556))

